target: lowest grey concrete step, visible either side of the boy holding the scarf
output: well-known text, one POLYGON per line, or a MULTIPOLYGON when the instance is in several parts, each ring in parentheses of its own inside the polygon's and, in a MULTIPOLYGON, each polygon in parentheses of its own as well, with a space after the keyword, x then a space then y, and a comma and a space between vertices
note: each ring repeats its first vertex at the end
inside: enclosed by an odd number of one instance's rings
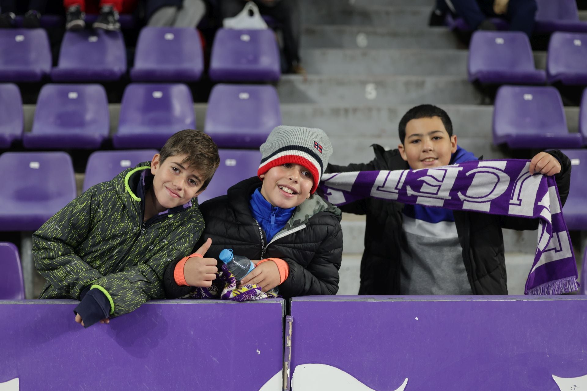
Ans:
MULTIPOLYGON (((356 295, 359 292, 361 256, 362 253, 343 254, 342 264, 339 270, 339 295, 356 295)), ((526 285, 530 267, 532 266, 533 258, 534 256, 532 254, 523 254, 518 252, 505 253, 505 270, 507 273, 508 294, 524 294, 524 287, 526 285)))

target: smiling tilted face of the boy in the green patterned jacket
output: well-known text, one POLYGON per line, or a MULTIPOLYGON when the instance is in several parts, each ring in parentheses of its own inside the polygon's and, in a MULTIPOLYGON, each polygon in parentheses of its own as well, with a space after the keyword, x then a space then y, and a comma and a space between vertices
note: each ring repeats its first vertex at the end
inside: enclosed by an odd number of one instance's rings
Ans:
POLYGON ((190 199, 200 195, 205 178, 185 163, 187 155, 173 155, 160 161, 156 154, 151 161, 155 208, 158 212, 184 205, 190 199))

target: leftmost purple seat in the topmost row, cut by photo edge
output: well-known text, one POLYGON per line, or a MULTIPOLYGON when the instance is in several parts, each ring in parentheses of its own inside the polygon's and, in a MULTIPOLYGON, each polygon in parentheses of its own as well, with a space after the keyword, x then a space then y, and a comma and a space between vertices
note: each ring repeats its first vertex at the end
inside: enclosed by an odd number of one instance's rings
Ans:
POLYGON ((40 81, 50 70, 51 50, 45 30, 0 30, 0 81, 40 81))

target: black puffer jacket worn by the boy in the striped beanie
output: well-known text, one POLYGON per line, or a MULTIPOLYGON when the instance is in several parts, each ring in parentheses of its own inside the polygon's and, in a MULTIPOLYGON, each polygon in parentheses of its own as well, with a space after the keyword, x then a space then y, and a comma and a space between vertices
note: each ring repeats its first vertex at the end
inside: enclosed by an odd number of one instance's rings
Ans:
MULTIPOLYGON (((206 227, 195 250, 210 237, 212 246, 206 257, 218 259, 220 251, 230 248, 253 260, 286 261, 289 276, 279 285, 279 294, 284 297, 336 294, 342 258, 340 209, 313 195, 295 209, 284 228, 267 243, 249 209, 251 195, 261 183, 256 176, 245 179, 228 189, 228 195, 200 205, 206 227)), ((183 296, 192 289, 175 283, 177 261, 167 267, 164 278, 168 298, 183 296)))

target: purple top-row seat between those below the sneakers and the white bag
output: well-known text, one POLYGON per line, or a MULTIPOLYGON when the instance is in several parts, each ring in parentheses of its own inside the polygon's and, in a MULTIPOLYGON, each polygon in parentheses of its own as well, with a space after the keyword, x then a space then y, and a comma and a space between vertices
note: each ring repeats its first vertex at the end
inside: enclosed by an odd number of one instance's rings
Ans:
POLYGON ((204 72, 204 54, 196 29, 146 27, 141 30, 133 81, 195 81, 204 72))

